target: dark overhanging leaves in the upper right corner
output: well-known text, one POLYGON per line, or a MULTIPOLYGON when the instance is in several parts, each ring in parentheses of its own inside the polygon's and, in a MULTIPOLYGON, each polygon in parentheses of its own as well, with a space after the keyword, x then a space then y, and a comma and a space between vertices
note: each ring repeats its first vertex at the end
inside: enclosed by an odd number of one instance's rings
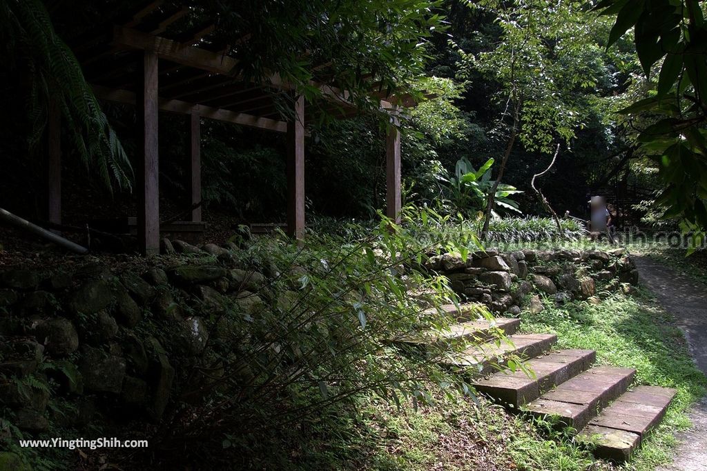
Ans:
POLYGON ((645 82, 641 100, 623 112, 637 121, 636 141, 665 183, 655 204, 662 216, 679 218, 682 229, 694 231, 697 239, 707 227, 704 7, 697 0, 604 0, 596 7, 617 16, 609 46, 633 28, 645 82))

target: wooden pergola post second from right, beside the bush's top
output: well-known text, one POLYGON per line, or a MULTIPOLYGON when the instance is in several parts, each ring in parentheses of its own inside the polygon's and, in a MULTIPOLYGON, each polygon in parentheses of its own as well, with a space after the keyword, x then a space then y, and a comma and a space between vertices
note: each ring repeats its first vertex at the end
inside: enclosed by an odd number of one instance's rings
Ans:
POLYGON ((287 232, 305 232, 305 100, 295 100, 295 116, 287 123, 287 232))

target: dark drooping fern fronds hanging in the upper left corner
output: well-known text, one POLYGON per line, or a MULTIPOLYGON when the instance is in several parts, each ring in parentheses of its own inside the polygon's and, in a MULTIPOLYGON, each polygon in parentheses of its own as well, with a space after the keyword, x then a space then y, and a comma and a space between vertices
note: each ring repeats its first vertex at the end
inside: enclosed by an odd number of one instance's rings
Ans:
POLYGON ((0 66, 11 90, 16 87, 27 97, 26 138, 31 153, 41 148, 49 108, 58 107, 83 164, 100 175, 108 188, 112 182, 131 187, 127 155, 42 1, 0 1, 0 66))

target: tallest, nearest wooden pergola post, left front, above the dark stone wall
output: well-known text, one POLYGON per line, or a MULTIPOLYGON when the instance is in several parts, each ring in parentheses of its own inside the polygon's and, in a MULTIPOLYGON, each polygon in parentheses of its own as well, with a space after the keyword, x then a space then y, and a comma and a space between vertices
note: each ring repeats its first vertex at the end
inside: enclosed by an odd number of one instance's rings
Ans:
POLYGON ((137 238, 144 255, 160 253, 160 201, 158 158, 158 60, 145 51, 140 71, 137 105, 137 238))

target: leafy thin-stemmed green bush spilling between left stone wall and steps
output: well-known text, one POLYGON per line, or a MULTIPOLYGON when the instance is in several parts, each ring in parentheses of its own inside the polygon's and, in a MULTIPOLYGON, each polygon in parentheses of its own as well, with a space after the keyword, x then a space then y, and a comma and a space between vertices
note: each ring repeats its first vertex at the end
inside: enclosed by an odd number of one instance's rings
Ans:
MULTIPOLYGON (((451 376, 436 361, 450 348, 468 347, 466 341, 420 352, 391 340, 453 321, 426 311, 458 302, 448 280, 416 268, 440 251, 464 255, 477 239, 430 210, 406 210, 404 219, 415 224, 382 218, 363 237, 354 229, 311 233, 305 246, 274 234, 234 252, 237 266, 262 270, 270 282, 199 312, 209 318, 209 348, 199 364, 177 375, 184 399, 151 448, 201 443, 195 455, 245 466, 233 463, 234 456, 250 463, 254 455, 292 447, 292 427, 322 414, 355 416, 358 401, 371 393, 399 407, 427 403, 434 390, 469 393, 463 376, 451 376)), ((332 427, 340 422, 322 420, 332 427)), ((335 441, 351 432, 344 429, 317 433, 335 441)), ((258 467, 274 465, 284 466, 258 467)))

